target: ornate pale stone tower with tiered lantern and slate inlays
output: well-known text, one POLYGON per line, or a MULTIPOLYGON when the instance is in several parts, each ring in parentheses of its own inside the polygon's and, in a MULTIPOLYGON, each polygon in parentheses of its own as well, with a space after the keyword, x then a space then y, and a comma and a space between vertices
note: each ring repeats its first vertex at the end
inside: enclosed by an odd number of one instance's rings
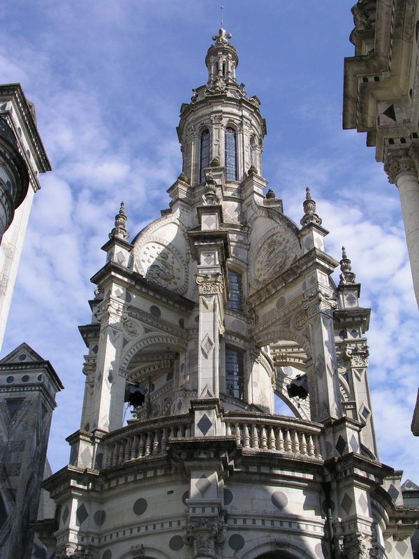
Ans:
POLYGON ((309 189, 301 227, 264 196, 265 121, 229 38, 182 105, 170 208, 129 242, 122 203, 91 278, 80 430, 44 485, 55 557, 409 557, 417 511, 378 460, 360 284, 344 250, 331 279, 309 189))

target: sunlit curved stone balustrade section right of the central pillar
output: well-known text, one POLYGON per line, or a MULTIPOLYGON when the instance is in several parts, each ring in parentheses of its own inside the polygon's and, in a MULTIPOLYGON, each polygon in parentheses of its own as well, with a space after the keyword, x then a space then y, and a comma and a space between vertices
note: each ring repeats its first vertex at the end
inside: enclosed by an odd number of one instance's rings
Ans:
POLYGON ((293 417, 228 412, 224 415, 226 435, 235 437, 237 447, 253 451, 277 451, 291 456, 322 459, 321 424, 293 417))

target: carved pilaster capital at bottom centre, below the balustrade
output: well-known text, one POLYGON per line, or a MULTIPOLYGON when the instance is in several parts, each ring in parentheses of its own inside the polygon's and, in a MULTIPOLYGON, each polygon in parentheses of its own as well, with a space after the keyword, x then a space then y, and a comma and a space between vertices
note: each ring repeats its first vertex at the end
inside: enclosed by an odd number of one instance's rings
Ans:
POLYGON ((186 525, 186 544, 193 545, 193 557, 205 556, 219 559, 216 544, 221 544, 225 539, 223 522, 217 519, 200 518, 186 525))

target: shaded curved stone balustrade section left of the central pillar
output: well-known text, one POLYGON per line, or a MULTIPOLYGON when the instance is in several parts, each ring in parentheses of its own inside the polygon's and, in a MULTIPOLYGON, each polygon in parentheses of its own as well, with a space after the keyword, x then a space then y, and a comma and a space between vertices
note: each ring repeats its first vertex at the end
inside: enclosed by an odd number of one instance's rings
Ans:
POLYGON ((191 415, 184 414, 133 421, 117 432, 110 433, 103 439, 106 449, 105 467, 166 453, 169 439, 191 436, 192 419, 191 415))

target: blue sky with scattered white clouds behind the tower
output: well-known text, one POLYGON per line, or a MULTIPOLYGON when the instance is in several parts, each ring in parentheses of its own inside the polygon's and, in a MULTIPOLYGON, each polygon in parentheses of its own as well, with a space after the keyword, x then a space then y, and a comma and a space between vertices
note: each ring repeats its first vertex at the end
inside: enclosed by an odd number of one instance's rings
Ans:
MULTIPOLYGON (((369 331, 380 458, 419 482, 411 435, 418 309, 397 190, 365 136, 341 130, 343 59, 353 55, 351 1, 224 0, 237 79, 262 101, 263 174, 284 211, 302 217, 311 187, 330 231, 345 245, 369 331)), ((79 428, 91 277, 105 263, 120 201, 131 238, 168 207, 181 170, 175 126, 191 88, 206 81, 205 53, 219 27, 212 0, 14 0, 0 8, 0 80, 21 82, 36 103, 53 171, 41 177, 2 355, 26 341, 49 359, 66 390, 48 455, 68 463, 65 437, 79 428), (22 318, 24 317, 24 318, 22 318)))

